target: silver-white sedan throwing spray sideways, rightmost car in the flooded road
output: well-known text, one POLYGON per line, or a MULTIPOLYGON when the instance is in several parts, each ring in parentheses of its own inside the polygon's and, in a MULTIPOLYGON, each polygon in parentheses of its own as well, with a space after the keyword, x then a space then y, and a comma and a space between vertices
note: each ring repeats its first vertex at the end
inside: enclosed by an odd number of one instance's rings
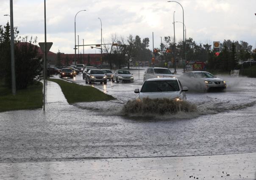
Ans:
POLYGON ((178 79, 182 85, 189 87, 190 90, 209 90, 210 88, 225 89, 227 87, 226 82, 223 79, 217 78, 206 71, 191 71, 187 72, 178 79))

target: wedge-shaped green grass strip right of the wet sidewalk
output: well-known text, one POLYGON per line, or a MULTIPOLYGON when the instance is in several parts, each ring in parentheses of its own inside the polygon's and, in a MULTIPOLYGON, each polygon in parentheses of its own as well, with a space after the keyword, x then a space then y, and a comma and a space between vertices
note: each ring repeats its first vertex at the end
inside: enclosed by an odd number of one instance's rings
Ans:
POLYGON ((60 87, 69 104, 78 102, 110 101, 115 98, 102 91, 91 87, 78 85, 74 82, 67 82, 61 79, 47 79, 56 82, 60 87))

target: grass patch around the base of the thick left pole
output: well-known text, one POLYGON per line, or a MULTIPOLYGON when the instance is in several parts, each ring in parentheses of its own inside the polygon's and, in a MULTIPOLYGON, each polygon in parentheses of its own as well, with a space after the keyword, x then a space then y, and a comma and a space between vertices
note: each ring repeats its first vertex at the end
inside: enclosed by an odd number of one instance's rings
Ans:
POLYGON ((43 106, 43 84, 41 82, 29 85, 26 89, 17 90, 12 95, 11 89, 0 83, 0 112, 38 109, 43 106))

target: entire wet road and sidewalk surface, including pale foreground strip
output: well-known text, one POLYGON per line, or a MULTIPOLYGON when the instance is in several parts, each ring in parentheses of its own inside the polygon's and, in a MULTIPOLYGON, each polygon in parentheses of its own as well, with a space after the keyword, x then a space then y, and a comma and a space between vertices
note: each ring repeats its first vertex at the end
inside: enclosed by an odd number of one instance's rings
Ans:
MULTIPOLYGON (((67 80, 85 85, 81 75, 67 80)), ((189 179, 195 173, 199 179, 256 179, 256 83, 228 82, 225 92, 188 93, 198 112, 165 116, 121 113, 142 77, 93 85, 117 101, 74 105, 47 82, 45 112, 0 113, 0 178, 189 179), (221 169, 231 176, 219 178, 221 169)))

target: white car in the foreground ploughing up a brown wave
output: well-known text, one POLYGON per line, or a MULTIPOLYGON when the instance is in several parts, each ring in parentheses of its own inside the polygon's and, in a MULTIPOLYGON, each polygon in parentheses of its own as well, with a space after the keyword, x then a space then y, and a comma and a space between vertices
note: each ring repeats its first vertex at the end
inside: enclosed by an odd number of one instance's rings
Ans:
POLYGON ((139 93, 138 99, 142 98, 168 98, 176 101, 186 100, 187 87, 182 87, 177 78, 154 78, 147 79, 141 90, 135 89, 134 93, 139 93))

